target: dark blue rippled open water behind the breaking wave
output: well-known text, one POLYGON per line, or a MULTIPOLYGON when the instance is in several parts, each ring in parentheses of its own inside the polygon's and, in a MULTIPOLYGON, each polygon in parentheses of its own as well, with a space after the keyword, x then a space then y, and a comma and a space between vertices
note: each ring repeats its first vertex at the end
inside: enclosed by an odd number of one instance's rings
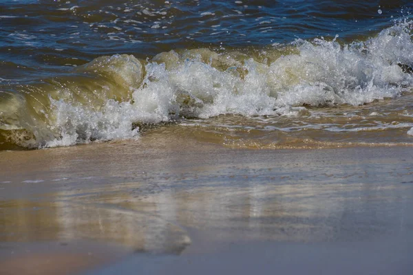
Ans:
POLYGON ((147 58, 337 34, 365 40, 412 8, 412 1, 1 1, 0 72, 19 79, 102 55, 147 58))

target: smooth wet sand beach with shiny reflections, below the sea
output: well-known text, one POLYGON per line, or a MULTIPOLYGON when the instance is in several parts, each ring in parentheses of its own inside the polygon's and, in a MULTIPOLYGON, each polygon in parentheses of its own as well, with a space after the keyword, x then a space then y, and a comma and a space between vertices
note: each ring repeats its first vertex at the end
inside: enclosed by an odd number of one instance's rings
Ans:
POLYGON ((0 152, 0 274, 412 274, 412 147, 167 131, 0 152))

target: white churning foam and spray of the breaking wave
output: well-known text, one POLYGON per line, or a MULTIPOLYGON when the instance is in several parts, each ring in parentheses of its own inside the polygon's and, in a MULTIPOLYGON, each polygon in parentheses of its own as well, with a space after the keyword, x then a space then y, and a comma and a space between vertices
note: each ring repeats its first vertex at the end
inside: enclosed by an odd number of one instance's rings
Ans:
MULTIPOLYGON (((335 40, 297 40, 293 43, 295 54, 281 56, 273 63, 259 63, 253 56, 240 60, 230 53, 202 49, 189 57, 164 53, 167 59, 153 58, 145 69, 144 62, 133 56, 100 57, 83 69, 103 74, 129 89, 130 100, 107 98, 96 107, 93 102, 87 105, 50 98, 50 117, 54 119, 47 122, 47 131, 53 135, 35 131, 34 143, 64 146, 136 138, 139 129, 133 129, 135 122, 165 122, 181 115, 299 115, 305 109, 300 107, 303 104, 359 105, 394 98, 402 94, 403 87, 413 86, 413 76, 399 66, 413 65, 407 25, 394 25, 374 39, 350 45, 335 40)), ((401 126, 411 127, 397 127, 401 126)), ((410 129, 407 133, 412 132, 410 129)))

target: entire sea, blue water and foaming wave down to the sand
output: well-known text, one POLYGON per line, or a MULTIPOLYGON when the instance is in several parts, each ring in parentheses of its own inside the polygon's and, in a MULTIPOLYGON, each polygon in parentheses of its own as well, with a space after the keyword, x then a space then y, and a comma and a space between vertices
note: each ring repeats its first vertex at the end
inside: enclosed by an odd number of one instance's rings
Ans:
POLYGON ((0 1, 0 150, 173 131, 413 145, 412 1, 0 1))

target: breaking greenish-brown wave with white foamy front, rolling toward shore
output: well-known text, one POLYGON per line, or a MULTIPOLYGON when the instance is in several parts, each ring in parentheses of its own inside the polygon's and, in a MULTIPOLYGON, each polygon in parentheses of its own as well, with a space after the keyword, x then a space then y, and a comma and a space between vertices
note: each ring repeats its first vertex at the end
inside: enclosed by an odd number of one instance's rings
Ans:
POLYGON ((222 114, 299 115, 395 98, 413 85, 412 22, 368 41, 101 56, 66 76, 0 86, 1 148, 131 139, 141 124, 222 114))

